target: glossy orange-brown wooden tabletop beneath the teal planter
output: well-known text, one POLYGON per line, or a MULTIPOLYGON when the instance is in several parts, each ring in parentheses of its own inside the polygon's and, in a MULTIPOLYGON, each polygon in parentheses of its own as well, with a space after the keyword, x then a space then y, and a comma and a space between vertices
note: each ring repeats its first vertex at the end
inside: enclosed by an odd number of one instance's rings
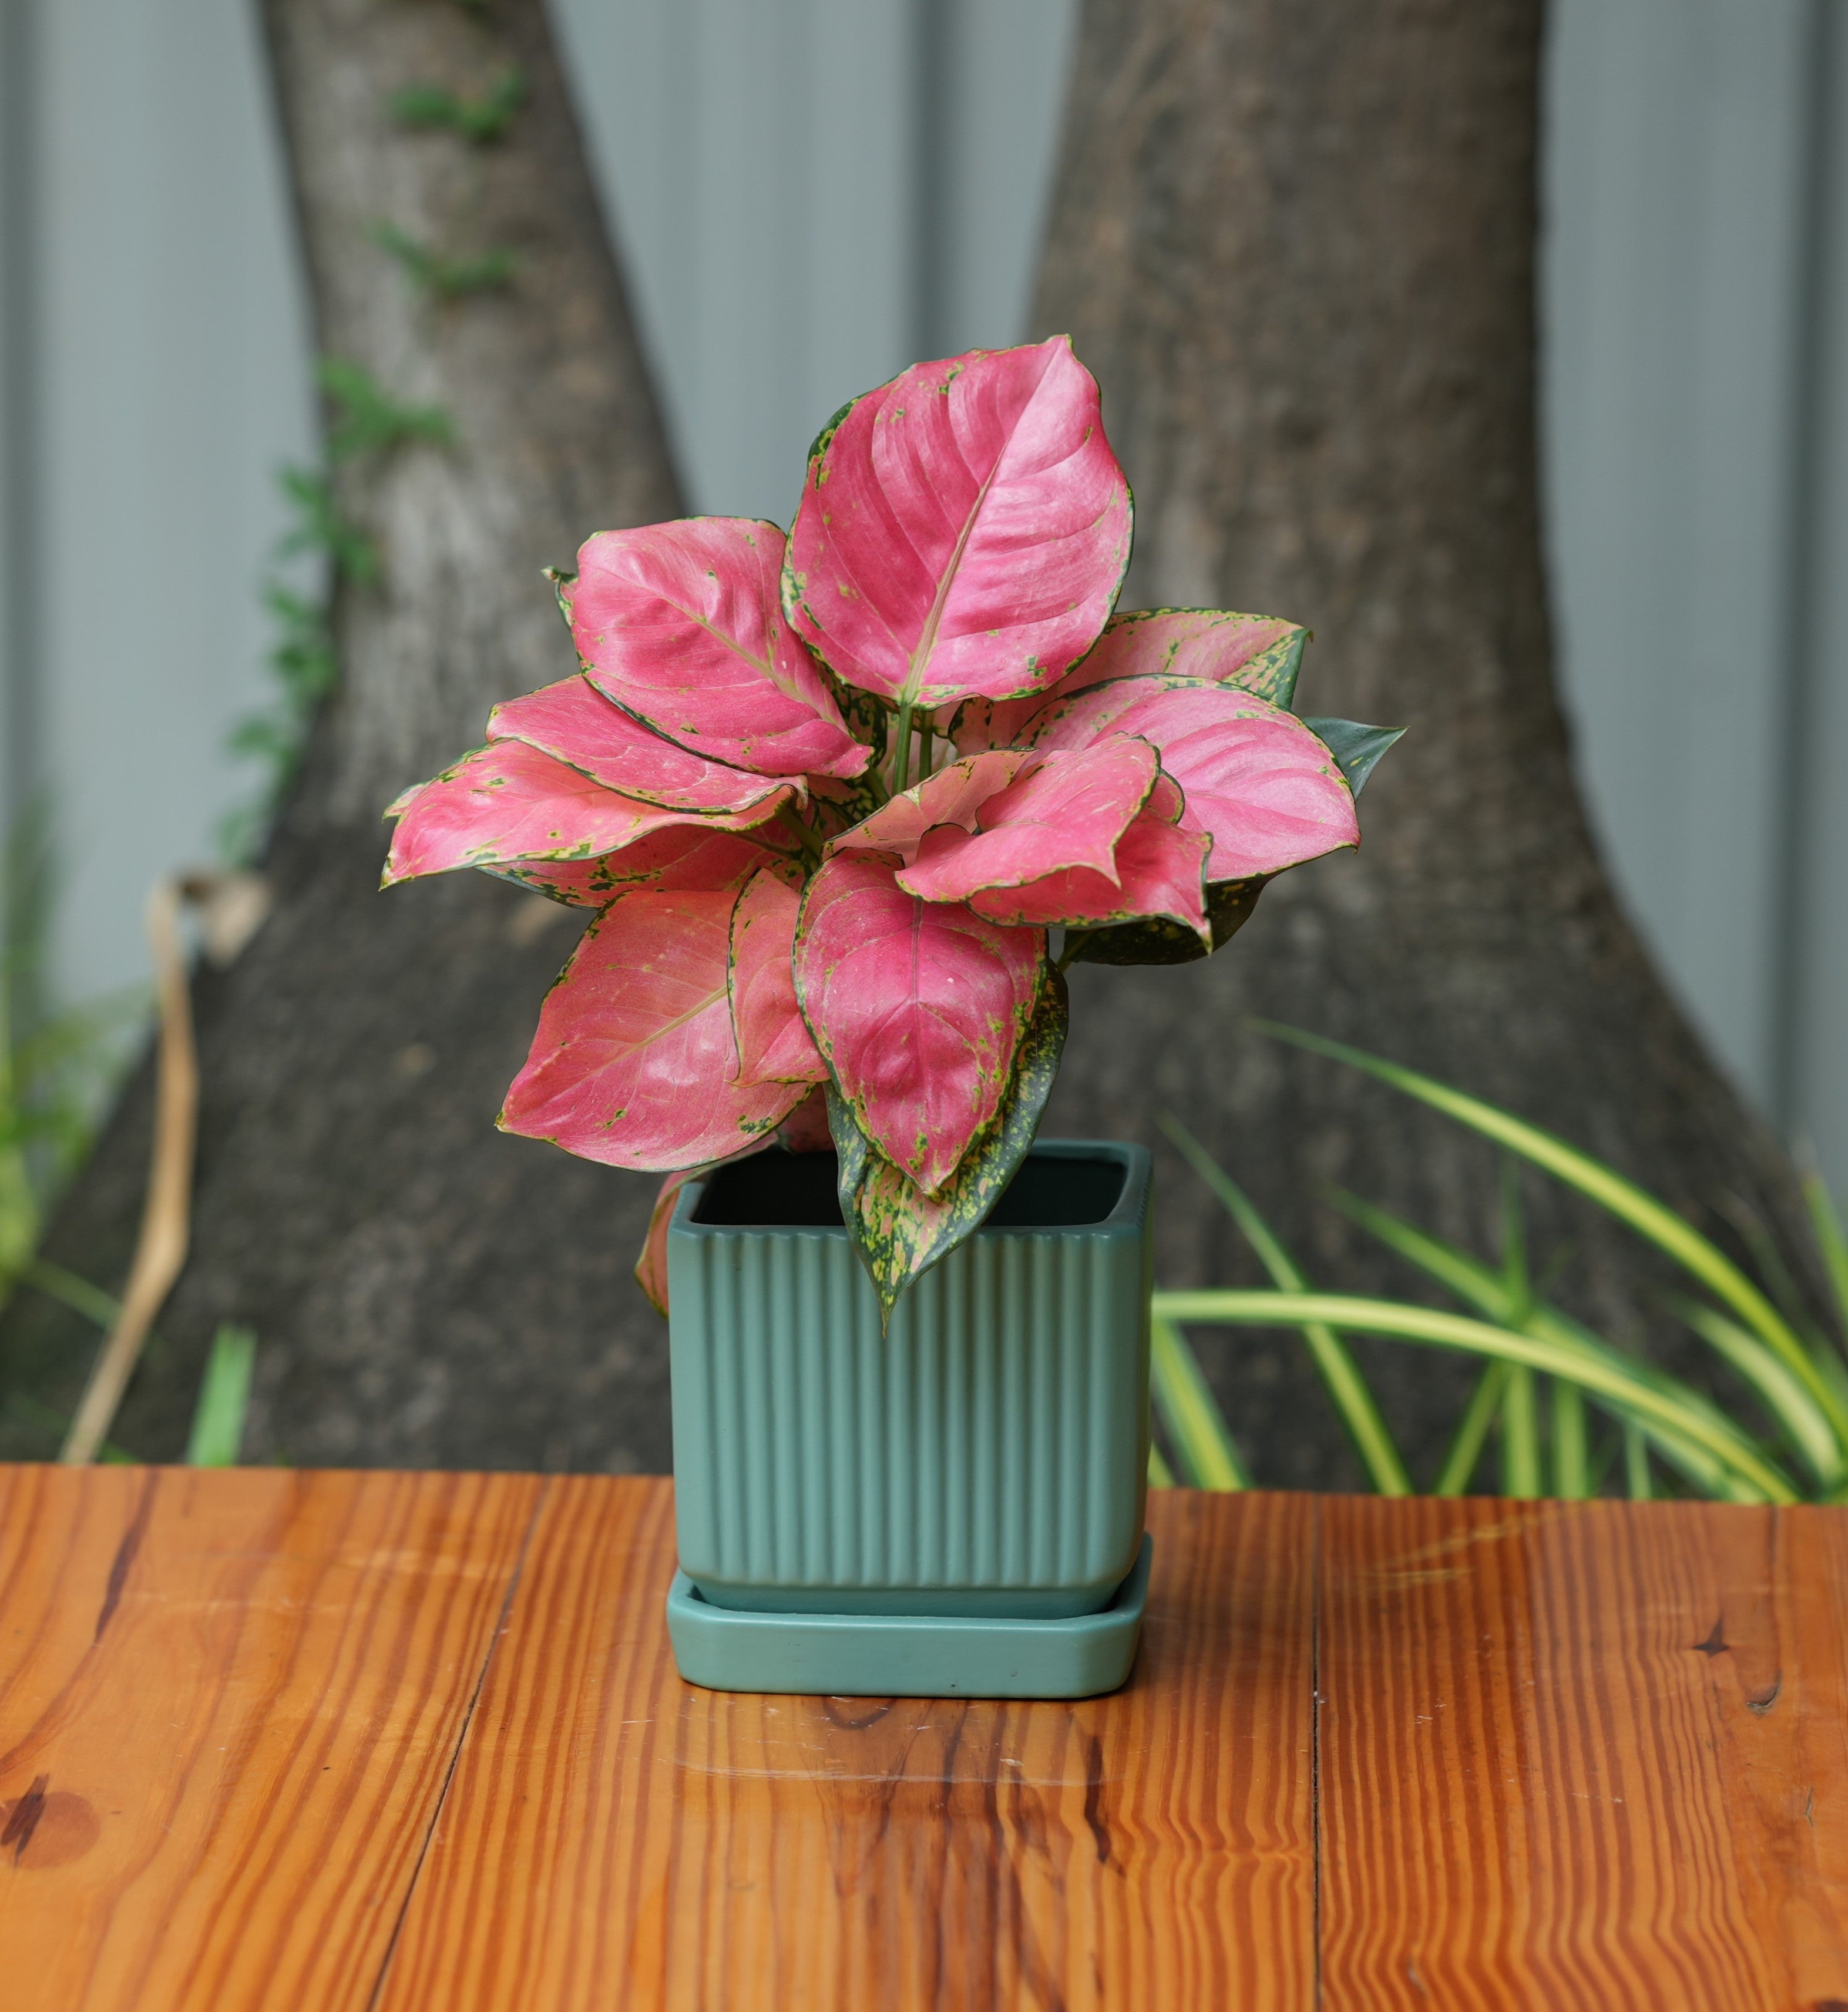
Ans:
POLYGON ((0 2004, 1848 2008, 1848 1511, 1150 1523, 1114 1698, 744 1698, 666 1481, 0 1467, 0 2004))

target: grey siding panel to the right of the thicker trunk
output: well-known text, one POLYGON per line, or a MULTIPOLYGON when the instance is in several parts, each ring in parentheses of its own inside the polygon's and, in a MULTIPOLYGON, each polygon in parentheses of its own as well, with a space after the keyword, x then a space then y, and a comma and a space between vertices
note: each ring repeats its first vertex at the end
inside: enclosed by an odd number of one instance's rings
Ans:
POLYGON ((1554 606, 1619 885, 1770 1105, 1812 0, 1560 0, 1546 149, 1554 606))

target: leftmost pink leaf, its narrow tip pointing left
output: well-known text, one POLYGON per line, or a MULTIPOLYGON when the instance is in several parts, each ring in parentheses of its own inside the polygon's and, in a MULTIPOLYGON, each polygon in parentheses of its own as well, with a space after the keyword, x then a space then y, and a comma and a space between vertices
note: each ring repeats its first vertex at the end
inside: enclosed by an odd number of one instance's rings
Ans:
POLYGON ((668 811, 619 797, 523 740, 491 740, 386 811, 398 829, 380 885, 515 859, 593 859, 670 825, 744 831, 772 817, 788 795, 778 789, 774 799, 732 815, 668 811))

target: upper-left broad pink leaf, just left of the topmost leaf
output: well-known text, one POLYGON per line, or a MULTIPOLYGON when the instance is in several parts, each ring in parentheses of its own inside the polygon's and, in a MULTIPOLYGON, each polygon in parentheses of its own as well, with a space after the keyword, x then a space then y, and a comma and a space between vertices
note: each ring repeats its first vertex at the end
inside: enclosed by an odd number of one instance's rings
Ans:
POLYGON ((782 612, 782 543, 748 517, 599 531, 559 598, 595 684, 668 738, 760 775, 859 775, 871 748, 782 612))

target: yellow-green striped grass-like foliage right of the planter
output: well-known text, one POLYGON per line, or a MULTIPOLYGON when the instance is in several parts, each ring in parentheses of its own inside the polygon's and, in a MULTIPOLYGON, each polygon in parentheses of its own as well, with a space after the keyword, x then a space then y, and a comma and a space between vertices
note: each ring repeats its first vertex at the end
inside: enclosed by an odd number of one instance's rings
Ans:
POLYGON ((1436 1495, 1460 1495, 1470 1485, 1494 1435, 1498 1487, 1516 1497, 1599 1493, 1621 1459, 1621 1481, 1633 1499, 1659 1493, 1657 1467, 1667 1469, 1681 1491, 1721 1501, 1848 1499, 1848 1362, 1840 1348, 1840 1336, 1848 1336, 1848 1237, 1814 1169, 1804 1177, 1804 1195, 1836 1302, 1828 1320, 1794 1312, 1794 1288, 1784 1278, 1776 1280, 1788 1302, 1780 1310, 1709 1237, 1564 1139, 1359 1048, 1297 1028, 1267 1026, 1265 1032, 1365 1070, 1502 1147, 1500 1262, 1488 1264, 1357 1195, 1331 1189, 1333 1207, 1466 1312, 1315 1292, 1249 1195, 1182 1125, 1164 1119, 1168 1137, 1225 1203, 1273 1280, 1269 1292, 1154 1296, 1154 1402, 1184 1481, 1245 1485, 1245 1463, 1180 1332, 1196 1322, 1297 1328, 1379 1493, 1408 1493, 1412 1481, 1343 1344, 1345 1334, 1450 1348, 1482 1360, 1482 1376, 1434 1479, 1436 1495), (1514 1177, 1522 1161, 1577 1189, 1681 1268, 1695 1290, 1677 1294, 1669 1308, 1735 1374, 1760 1416, 1760 1431, 1749 1431, 1685 1378, 1591 1332, 1546 1298, 1548 1282, 1536 1282, 1528 1268, 1514 1177), (1836 1338, 1826 1332, 1830 1322, 1836 1338), (1589 1410, 1611 1427, 1601 1451, 1593 1447, 1589 1410))

